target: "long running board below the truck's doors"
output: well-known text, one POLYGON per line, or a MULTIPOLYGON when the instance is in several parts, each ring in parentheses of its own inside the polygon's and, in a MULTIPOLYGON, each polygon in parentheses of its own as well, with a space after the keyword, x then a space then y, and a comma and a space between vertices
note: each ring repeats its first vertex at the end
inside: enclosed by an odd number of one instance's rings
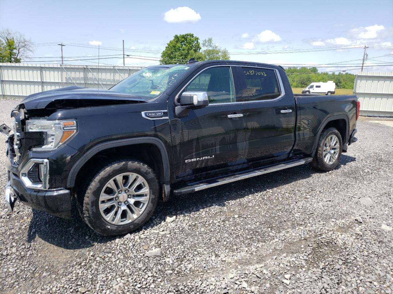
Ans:
POLYGON ((230 176, 221 176, 221 177, 211 178, 211 179, 197 181, 197 182, 189 182, 189 183, 187 183, 187 186, 182 187, 177 190, 174 190, 173 194, 174 195, 188 194, 188 193, 208 189, 211 187, 224 185, 224 184, 231 183, 234 181, 244 180, 244 179, 251 178, 254 176, 260 176, 262 174, 267 174, 269 172, 279 171, 281 169, 288 169, 289 167, 302 165, 305 163, 309 163, 311 161, 312 161, 312 158, 307 157, 307 158, 302 158, 302 159, 298 159, 298 160, 292 160, 289 162, 278 163, 276 165, 264 167, 263 169, 252 169, 252 170, 248 170, 248 171, 243 171, 243 172, 239 172, 236 174, 231 174, 230 176))

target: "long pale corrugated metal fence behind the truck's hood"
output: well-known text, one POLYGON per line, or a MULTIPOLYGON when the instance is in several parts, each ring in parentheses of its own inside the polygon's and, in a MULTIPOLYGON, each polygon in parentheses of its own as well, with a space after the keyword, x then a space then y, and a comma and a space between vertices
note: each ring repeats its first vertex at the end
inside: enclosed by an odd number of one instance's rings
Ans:
POLYGON ((0 63, 0 97, 23 98, 67 86, 108 89, 143 67, 0 63))

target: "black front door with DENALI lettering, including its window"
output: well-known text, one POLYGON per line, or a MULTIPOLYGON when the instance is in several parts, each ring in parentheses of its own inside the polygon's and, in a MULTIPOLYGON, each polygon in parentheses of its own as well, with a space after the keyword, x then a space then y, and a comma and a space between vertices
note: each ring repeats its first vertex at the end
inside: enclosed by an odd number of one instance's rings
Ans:
POLYGON ((246 113, 236 98, 239 80, 233 71, 231 66, 203 69, 176 96, 184 91, 206 91, 209 97, 208 106, 191 109, 185 118, 169 111, 177 178, 230 167, 244 159, 246 113), (237 117, 232 118, 233 114, 237 117))

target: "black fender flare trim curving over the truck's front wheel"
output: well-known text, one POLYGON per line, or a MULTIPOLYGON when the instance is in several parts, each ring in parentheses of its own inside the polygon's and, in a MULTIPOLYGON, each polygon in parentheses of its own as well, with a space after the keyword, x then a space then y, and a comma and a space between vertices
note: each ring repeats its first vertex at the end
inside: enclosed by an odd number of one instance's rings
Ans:
POLYGON ((155 145, 160 151, 161 160, 162 160, 162 170, 163 170, 163 179, 165 184, 170 182, 170 166, 169 166, 169 158, 165 148, 164 143, 155 137, 140 137, 140 138, 129 138, 129 139, 121 139, 108 141, 104 143, 100 143, 90 148, 86 153, 83 154, 81 158, 73 165, 68 174, 67 178, 67 187, 71 188, 75 186, 76 176, 79 170, 83 167, 83 165, 92 158, 95 154, 105 149, 110 149, 113 147, 119 146, 127 146, 127 145, 136 145, 136 144, 152 144, 155 145))

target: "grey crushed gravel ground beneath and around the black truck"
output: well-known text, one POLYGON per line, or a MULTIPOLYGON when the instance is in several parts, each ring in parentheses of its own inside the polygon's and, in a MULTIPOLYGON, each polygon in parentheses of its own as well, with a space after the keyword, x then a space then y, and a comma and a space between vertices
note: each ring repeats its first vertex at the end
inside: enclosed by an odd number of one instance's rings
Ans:
MULTIPOLYGON (((11 125, 16 104, 0 101, 0 122, 11 125)), ((122 238, 95 234, 76 212, 62 220, 17 202, 11 214, 2 198, 0 292, 392 293, 386 122, 361 118, 334 171, 303 165, 173 196, 122 238), (169 214, 176 219, 166 222, 169 214)))

